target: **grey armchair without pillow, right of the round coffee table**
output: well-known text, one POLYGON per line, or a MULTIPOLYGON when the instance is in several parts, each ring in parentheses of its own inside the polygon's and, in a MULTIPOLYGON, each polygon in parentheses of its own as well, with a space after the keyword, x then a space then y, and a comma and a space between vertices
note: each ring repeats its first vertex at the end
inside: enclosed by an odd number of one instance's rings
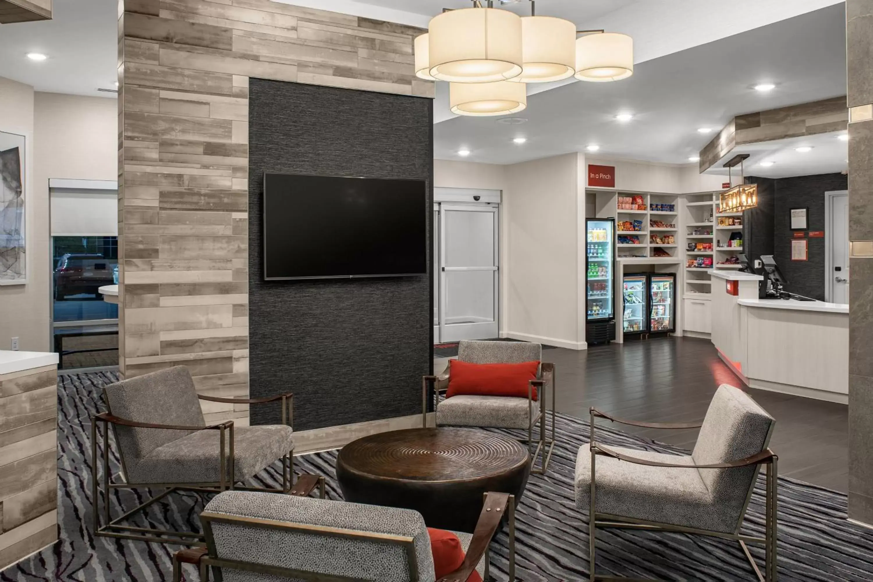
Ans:
POLYGON ((596 528, 681 531, 739 542, 760 582, 776 579, 776 463, 767 448, 773 417, 739 390, 722 384, 703 424, 620 420, 591 408, 591 443, 576 458, 576 505, 588 511, 591 580, 595 575, 596 528), (595 435, 595 419, 643 428, 698 428, 691 455, 666 455, 607 447, 595 435), (764 537, 740 533, 746 509, 766 465, 764 537), (746 543, 764 544, 761 574, 746 543))

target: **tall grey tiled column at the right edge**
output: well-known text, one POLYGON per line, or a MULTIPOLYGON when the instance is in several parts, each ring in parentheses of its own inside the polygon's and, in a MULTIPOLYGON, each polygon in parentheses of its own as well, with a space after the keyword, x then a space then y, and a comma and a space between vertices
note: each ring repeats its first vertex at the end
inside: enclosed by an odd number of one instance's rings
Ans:
POLYGON ((873 0, 847 0, 849 517, 873 524, 873 0))

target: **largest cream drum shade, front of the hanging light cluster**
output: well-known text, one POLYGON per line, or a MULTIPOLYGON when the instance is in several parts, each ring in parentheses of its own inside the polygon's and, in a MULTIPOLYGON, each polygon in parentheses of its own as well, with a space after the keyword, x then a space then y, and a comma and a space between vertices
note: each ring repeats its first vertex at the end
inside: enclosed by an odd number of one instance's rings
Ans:
POLYGON ((521 17, 508 10, 464 8, 430 21, 430 76, 491 83, 521 74, 521 17))

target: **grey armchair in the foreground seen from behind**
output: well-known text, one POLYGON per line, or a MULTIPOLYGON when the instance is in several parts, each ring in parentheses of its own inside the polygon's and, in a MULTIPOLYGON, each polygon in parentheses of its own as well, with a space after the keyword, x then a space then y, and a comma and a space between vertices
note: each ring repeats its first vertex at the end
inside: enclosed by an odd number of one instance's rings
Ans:
MULTIPOLYGON (((303 476, 301 480, 310 476, 303 476)), ((199 567, 201 579, 272 582, 278 579, 341 582, 434 582, 430 537, 414 510, 305 498, 225 491, 206 505, 200 520, 206 547, 174 557, 174 582, 182 564, 199 567)), ((514 544, 514 500, 488 493, 476 533, 455 532, 464 562, 440 582, 466 580, 473 570, 488 579, 488 546, 504 516, 514 544)), ((510 553, 514 579, 514 555, 510 553)))

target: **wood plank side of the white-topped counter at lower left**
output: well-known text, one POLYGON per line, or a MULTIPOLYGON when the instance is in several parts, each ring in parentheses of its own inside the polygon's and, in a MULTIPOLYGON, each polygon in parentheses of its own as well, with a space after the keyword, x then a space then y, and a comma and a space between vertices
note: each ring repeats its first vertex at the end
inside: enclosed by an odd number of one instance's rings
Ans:
POLYGON ((0 570, 58 539, 58 366, 0 374, 0 570))

